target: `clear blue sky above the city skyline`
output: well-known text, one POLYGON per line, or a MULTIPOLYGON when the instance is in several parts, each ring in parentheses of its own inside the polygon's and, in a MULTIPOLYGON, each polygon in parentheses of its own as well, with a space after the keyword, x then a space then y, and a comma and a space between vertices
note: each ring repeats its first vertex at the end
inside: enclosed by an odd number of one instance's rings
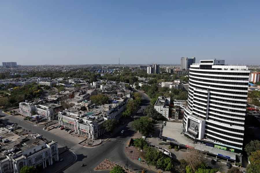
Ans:
POLYGON ((260 1, 0 1, 0 59, 20 65, 260 64, 260 1), (198 62, 198 61, 197 61, 198 62))

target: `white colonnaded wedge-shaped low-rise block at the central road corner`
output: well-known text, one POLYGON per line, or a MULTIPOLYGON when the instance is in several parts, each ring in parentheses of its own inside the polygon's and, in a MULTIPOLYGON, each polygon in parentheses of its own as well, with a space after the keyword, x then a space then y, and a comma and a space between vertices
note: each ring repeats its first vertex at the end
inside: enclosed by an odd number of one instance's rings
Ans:
POLYGON ((94 140, 99 138, 105 129, 101 125, 107 119, 119 120, 126 108, 126 99, 114 101, 100 107, 88 108, 88 112, 68 109, 59 112, 59 124, 74 130, 74 133, 94 140))

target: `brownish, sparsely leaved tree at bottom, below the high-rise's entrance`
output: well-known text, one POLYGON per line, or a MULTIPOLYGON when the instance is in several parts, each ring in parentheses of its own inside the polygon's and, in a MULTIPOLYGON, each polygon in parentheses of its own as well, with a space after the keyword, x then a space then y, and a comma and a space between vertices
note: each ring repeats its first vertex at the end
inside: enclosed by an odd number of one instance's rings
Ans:
POLYGON ((205 158, 202 156, 201 152, 195 149, 192 149, 185 156, 185 160, 195 172, 198 168, 205 168, 205 158))

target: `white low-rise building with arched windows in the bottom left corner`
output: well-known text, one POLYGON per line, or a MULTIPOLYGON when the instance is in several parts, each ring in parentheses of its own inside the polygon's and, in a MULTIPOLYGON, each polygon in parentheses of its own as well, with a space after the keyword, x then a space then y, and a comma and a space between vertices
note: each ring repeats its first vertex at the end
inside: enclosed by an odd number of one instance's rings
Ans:
POLYGON ((21 137, 13 132, 1 133, 0 172, 19 173, 23 166, 46 168, 59 161, 57 142, 40 134, 21 137))

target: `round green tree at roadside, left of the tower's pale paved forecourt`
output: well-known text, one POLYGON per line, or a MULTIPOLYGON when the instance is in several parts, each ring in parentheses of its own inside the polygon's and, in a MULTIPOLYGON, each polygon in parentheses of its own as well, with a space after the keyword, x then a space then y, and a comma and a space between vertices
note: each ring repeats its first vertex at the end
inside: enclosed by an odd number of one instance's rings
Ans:
POLYGON ((148 116, 142 116, 133 122, 133 127, 142 135, 148 136, 153 131, 153 121, 148 116))

